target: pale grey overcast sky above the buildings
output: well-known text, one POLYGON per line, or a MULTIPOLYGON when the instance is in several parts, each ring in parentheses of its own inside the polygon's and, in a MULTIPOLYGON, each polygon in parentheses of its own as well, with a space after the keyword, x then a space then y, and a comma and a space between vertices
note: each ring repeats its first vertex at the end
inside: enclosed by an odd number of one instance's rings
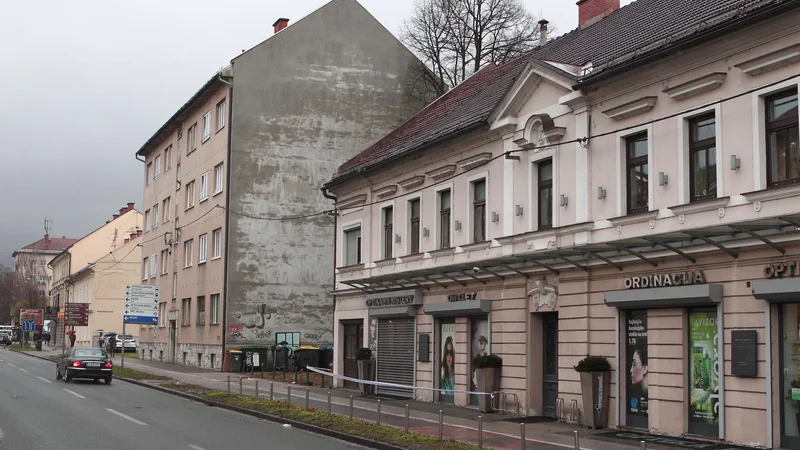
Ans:
MULTIPOLYGON (((136 150, 217 69, 327 0, 7 2, 0 15, 0 264, 142 201, 136 150)), ((397 34, 412 0, 360 0, 397 34)), ((623 0, 623 4, 631 0, 623 0)), ((569 31, 573 0, 523 0, 569 31)))

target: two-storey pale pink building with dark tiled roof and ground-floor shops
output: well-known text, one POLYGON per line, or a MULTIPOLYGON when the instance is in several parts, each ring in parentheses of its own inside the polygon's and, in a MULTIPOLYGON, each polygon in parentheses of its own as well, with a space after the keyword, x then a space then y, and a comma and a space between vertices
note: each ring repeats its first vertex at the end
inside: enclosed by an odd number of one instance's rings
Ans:
POLYGON ((326 185, 336 373, 366 343, 378 381, 438 388, 452 343, 453 395, 378 392, 474 403, 494 353, 514 406, 582 422, 573 366, 599 355, 610 426, 800 448, 800 5, 578 8, 326 185))

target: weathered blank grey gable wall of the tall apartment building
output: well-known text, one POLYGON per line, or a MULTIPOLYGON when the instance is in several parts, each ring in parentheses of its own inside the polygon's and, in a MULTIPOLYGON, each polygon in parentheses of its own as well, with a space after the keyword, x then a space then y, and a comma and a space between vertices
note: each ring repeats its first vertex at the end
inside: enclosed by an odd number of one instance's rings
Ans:
POLYGON ((417 59, 354 0, 335 0, 234 60, 227 343, 333 342, 336 168, 422 103, 406 100, 417 59))

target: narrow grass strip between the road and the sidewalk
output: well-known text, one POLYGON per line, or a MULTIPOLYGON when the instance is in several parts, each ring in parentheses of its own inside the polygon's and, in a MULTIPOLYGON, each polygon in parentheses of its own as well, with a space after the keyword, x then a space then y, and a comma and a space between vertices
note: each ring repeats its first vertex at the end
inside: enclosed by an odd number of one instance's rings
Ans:
POLYGON ((285 402, 277 400, 270 401, 266 399, 256 399, 246 395, 228 394, 227 392, 186 383, 162 383, 161 387, 196 395, 213 402, 258 411, 264 414, 303 422, 340 433, 368 438, 410 450, 473 450, 478 448, 474 445, 458 442, 454 439, 445 439, 439 442, 437 437, 413 432, 406 433, 399 428, 388 425, 378 425, 360 419, 350 420, 339 414, 328 416, 327 412, 320 411, 314 407, 306 411, 305 407, 300 405, 288 407, 285 402))

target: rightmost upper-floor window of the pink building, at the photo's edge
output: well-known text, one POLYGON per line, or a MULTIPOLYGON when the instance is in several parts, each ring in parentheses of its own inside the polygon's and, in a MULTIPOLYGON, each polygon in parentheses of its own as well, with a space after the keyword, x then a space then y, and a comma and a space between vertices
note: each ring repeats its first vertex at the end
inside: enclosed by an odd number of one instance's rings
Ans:
POLYGON ((800 181, 800 139, 797 129, 797 89, 767 97, 767 185, 800 181))

